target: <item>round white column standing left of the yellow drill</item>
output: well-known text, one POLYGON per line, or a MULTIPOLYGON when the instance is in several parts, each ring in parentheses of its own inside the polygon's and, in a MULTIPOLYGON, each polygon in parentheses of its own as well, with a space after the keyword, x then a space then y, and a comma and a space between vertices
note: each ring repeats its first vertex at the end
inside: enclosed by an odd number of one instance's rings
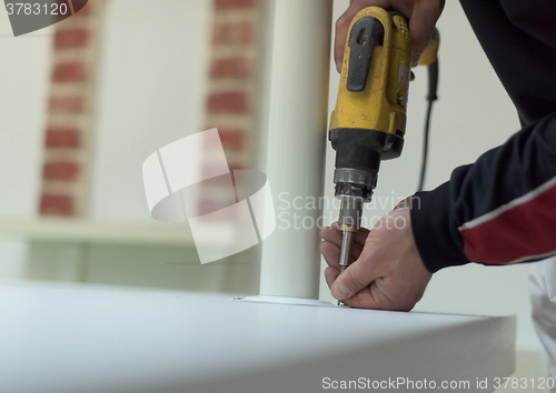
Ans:
POLYGON ((261 294, 318 298, 320 210, 307 203, 322 192, 331 6, 275 4, 266 173, 277 228, 262 242, 261 294))

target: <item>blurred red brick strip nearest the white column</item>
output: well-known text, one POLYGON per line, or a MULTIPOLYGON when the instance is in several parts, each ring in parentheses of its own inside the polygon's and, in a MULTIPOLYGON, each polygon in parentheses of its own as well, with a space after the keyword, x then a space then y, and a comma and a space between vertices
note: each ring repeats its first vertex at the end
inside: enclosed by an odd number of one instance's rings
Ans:
MULTIPOLYGON (((254 165, 260 6, 259 0, 214 0, 205 129, 218 128, 230 170, 254 165)), ((218 184, 207 187, 203 209, 218 205, 224 194, 218 184)))

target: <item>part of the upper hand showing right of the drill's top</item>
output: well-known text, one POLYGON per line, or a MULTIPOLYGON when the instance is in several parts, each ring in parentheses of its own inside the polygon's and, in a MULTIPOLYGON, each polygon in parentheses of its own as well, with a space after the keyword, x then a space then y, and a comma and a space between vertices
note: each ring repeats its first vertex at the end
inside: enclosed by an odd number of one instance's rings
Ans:
POLYGON ((444 0, 423 0, 414 3, 409 19, 409 32, 413 43, 413 64, 417 64, 421 53, 427 48, 435 24, 444 9, 444 0))

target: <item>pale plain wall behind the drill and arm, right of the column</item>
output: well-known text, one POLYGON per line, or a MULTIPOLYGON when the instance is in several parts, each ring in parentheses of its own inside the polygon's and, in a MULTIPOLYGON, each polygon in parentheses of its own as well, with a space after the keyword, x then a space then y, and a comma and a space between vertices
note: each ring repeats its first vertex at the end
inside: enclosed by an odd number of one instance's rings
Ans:
MULTIPOLYGON (((335 2, 335 19, 347 1, 335 2)), ((439 101, 435 104, 429 144, 429 164, 425 189, 433 189, 449 179, 451 171, 474 162, 483 152, 503 143, 519 129, 516 111, 475 38, 457 1, 447 1, 438 22, 440 30, 439 101)), ((426 110, 427 70, 415 69, 408 107, 404 153, 384 162, 375 199, 385 209, 366 211, 379 218, 399 199, 416 191, 421 135, 426 110)), ((330 81, 330 111, 336 100, 338 75, 330 81)), ((327 152, 325 194, 334 195, 334 151, 327 152)), ((336 220, 338 212, 325 212, 336 220)), ((469 264, 436 273, 416 310, 433 312, 518 314, 518 345, 539 349, 529 320, 527 292, 528 265, 481 266, 469 264)), ((321 281, 321 296, 330 300, 321 281)))

